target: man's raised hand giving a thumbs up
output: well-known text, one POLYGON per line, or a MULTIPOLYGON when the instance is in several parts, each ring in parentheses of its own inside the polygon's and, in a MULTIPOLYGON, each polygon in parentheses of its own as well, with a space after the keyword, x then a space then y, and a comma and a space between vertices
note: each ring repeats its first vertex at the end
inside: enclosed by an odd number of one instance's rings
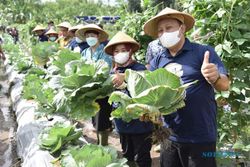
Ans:
POLYGON ((209 51, 206 51, 201 66, 201 73, 208 83, 214 84, 220 78, 220 74, 217 66, 213 63, 209 63, 209 56, 209 51))

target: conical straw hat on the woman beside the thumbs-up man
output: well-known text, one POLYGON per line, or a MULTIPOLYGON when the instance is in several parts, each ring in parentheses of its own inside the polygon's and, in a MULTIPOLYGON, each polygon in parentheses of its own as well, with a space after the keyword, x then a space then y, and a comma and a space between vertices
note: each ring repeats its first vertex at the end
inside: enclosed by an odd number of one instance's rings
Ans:
POLYGON ((131 44, 133 52, 136 52, 140 48, 140 44, 138 42, 136 42, 133 38, 131 38, 124 32, 120 31, 115 34, 115 36, 109 41, 107 46, 104 48, 104 51, 109 55, 113 55, 113 47, 117 44, 125 43, 131 44))

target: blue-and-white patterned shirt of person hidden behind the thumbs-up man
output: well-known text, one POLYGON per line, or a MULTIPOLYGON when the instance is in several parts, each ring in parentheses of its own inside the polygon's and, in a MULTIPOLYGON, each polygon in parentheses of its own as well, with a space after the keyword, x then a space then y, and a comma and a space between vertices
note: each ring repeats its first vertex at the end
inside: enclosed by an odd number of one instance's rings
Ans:
POLYGON ((148 44, 146 52, 146 62, 149 64, 154 57, 161 54, 165 50, 166 48, 161 45, 159 39, 153 40, 148 44))

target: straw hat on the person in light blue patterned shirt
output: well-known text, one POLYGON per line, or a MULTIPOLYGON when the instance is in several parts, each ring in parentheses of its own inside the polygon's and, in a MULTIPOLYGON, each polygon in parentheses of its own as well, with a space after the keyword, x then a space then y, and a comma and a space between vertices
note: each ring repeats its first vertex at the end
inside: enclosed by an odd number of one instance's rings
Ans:
POLYGON ((86 31, 97 31, 99 33, 99 42, 106 41, 109 37, 106 31, 104 31, 101 27, 95 24, 87 24, 82 26, 76 31, 76 36, 81 40, 86 40, 85 39, 86 31))

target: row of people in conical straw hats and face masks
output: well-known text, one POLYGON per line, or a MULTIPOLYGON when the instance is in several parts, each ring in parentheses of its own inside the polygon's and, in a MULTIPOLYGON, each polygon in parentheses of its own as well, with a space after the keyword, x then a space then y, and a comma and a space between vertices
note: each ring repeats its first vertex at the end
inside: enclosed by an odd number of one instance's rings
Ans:
MULTIPOLYGON (((217 126, 214 90, 228 90, 230 82, 227 71, 214 48, 191 42, 185 33, 192 29, 195 19, 187 13, 165 8, 144 24, 145 34, 155 40, 148 45, 143 65, 133 59, 140 44, 129 35, 118 32, 112 39, 95 24, 71 26, 62 22, 49 28, 36 26, 33 32, 40 42, 57 42, 61 48, 69 48, 82 55, 84 60, 104 60, 114 75, 116 90, 129 95, 124 82, 126 69, 154 71, 165 68, 178 75, 182 83, 198 80, 186 91, 185 107, 164 116, 166 128, 172 129, 168 146, 161 147, 162 167, 215 167, 215 157, 203 157, 204 152, 216 152, 217 126), (59 29, 59 32, 55 30, 59 29)), ((112 130, 110 113, 119 104, 108 103, 108 97, 98 99, 100 111, 92 122, 97 131, 98 144, 108 145, 112 130)), ((150 167, 152 160, 151 135, 153 124, 139 119, 127 123, 114 120, 119 133, 122 153, 130 166, 150 167)))

